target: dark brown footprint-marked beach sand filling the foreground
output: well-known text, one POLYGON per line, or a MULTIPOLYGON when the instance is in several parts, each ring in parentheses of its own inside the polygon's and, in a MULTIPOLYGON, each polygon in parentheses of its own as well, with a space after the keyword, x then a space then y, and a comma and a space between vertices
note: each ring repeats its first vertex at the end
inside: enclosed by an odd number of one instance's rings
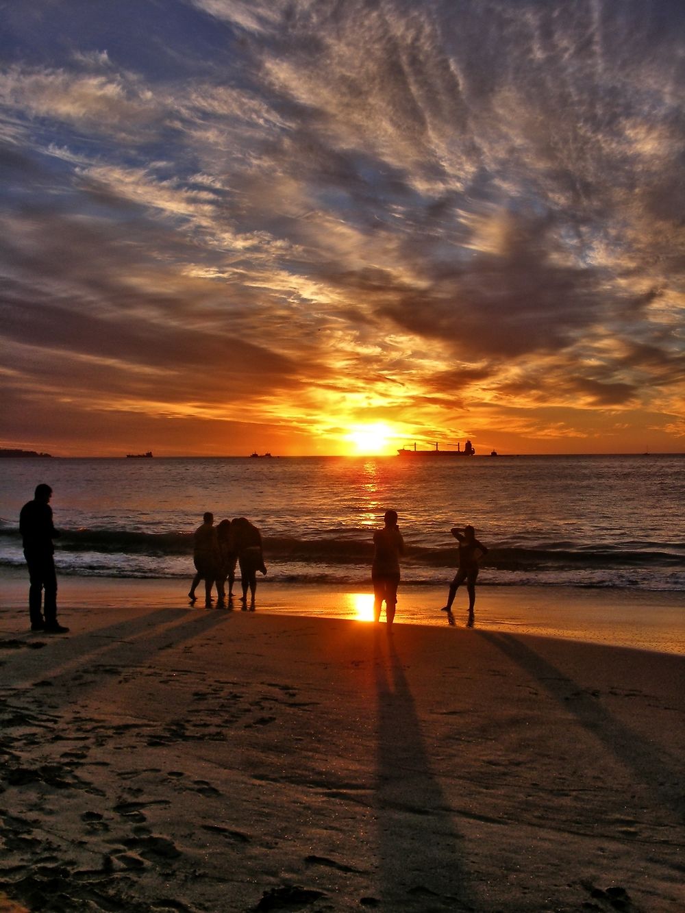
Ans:
POLYGON ((0 618, 0 890, 28 909, 685 904, 682 656, 144 605, 61 619, 0 618))

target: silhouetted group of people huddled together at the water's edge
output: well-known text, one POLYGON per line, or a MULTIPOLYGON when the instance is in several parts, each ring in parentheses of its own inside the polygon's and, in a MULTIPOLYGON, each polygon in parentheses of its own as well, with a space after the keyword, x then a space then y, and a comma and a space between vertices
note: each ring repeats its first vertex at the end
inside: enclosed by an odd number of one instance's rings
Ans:
POLYGON ((247 517, 222 519, 214 525, 214 514, 207 511, 202 525, 195 530, 193 545, 195 577, 190 585, 188 599, 195 603, 195 590, 205 582, 205 607, 211 608, 212 588, 216 585, 216 607, 230 607, 236 566, 240 568, 243 609, 254 610, 257 592, 257 572, 265 574, 267 566, 262 552, 261 533, 247 517), (226 583, 228 582, 228 593, 226 583))

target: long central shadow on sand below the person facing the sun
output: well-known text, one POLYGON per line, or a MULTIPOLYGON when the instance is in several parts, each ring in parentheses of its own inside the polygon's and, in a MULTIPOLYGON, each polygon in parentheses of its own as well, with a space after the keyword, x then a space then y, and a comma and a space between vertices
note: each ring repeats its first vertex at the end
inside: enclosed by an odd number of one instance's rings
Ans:
POLYGON ((430 769, 416 705, 392 637, 376 631, 375 807, 384 909, 468 910, 463 838, 430 769), (428 887, 428 885, 430 887, 428 887))

